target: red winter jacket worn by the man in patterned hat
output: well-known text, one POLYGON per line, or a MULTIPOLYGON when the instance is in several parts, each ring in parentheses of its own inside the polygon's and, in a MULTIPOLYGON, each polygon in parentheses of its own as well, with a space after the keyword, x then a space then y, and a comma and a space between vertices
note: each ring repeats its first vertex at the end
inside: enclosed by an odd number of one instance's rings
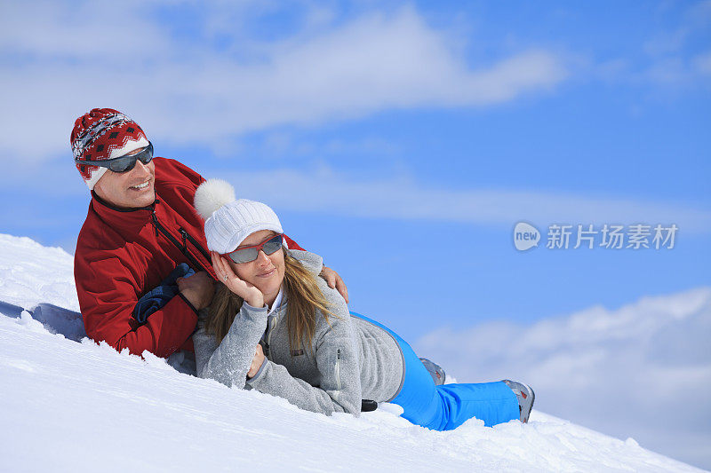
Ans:
MULTIPOLYGON (((204 222, 193 207, 204 179, 180 162, 155 158, 156 201, 141 209, 117 209, 92 193, 74 256, 74 278, 86 335, 116 350, 148 350, 159 357, 192 351, 196 311, 183 296, 140 325, 132 316, 141 296, 173 268, 187 263, 214 278, 204 222)), ((287 238, 289 248, 300 249, 287 238)))

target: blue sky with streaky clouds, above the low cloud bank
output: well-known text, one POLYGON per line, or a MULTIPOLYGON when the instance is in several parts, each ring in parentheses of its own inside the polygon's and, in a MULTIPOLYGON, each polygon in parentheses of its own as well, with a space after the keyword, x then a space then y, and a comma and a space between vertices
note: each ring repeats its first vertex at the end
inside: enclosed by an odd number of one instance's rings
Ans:
POLYGON ((411 340, 711 284, 709 2, 4 3, 0 232, 73 251, 76 116, 272 205, 411 340), (679 226, 515 250, 524 220, 679 226))

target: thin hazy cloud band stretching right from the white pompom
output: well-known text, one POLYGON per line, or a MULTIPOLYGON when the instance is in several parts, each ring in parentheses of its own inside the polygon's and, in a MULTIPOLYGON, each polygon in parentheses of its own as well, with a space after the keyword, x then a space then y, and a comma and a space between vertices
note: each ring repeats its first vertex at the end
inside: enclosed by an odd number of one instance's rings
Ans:
MULTIPOLYGON (((437 188, 409 177, 355 181, 322 168, 275 169, 238 173, 203 169, 204 177, 236 183, 240 196, 268 202, 280 210, 340 216, 440 220, 483 225, 676 224, 681 233, 711 230, 711 212, 669 203, 603 199, 573 193, 508 189, 437 188)), ((544 228, 539 228, 545 231, 544 228)))

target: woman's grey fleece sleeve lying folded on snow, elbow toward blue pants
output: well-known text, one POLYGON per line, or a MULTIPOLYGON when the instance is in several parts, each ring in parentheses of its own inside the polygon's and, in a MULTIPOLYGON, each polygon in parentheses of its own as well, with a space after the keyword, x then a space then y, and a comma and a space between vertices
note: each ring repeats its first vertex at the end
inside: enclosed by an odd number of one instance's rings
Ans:
MULTIPOLYGON (((285 398, 294 406, 308 411, 330 415, 346 412, 360 415, 361 378, 360 351, 348 307, 335 289, 320 284, 324 296, 336 317, 319 323, 318 339, 314 343, 316 366, 321 382, 312 386, 300 378, 292 377, 282 365, 265 359, 260 371, 247 380, 247 385, 285 398)), ((320 314, 320 312, 319 312, 320 314)))

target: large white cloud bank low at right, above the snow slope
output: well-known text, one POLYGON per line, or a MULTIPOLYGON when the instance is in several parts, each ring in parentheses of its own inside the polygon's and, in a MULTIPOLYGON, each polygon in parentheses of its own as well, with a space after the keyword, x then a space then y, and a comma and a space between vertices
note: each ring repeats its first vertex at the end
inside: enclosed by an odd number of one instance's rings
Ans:
POLYGON ((520 379, 544 412, 711 465, 710 334, 711 288, 699 288, 532 326, 443 327, 416 349, 459 382, 520 379))

